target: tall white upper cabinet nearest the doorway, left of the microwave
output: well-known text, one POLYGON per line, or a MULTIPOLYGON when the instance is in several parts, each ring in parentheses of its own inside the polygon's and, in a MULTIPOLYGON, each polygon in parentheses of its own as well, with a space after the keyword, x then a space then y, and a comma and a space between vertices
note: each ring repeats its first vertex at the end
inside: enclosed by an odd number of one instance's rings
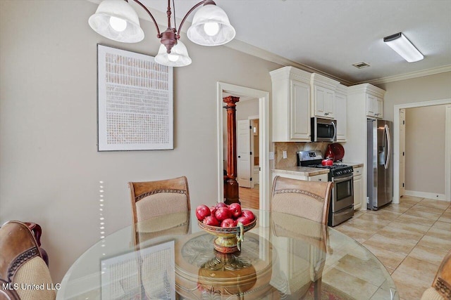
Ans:
POLYGON ((282 67, 270 74, 273 142, 309 142, 311 73, 295 67, 282 67))

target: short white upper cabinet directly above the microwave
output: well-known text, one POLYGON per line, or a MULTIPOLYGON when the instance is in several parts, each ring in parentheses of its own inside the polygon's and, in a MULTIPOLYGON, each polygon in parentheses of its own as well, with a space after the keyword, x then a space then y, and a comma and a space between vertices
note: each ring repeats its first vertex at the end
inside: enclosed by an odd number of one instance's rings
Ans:
POLYGON ((311 116, 335 119, 335 89, 340 82, 311 74, 311 116))

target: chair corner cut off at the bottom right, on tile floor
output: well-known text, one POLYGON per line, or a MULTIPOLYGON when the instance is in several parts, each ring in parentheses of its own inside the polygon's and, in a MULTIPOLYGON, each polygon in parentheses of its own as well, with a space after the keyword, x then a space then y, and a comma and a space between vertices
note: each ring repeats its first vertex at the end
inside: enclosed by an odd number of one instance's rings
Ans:
POLYGON ((440 263, 432 286, 424 291, 421 300, 451 299, 451 250, 440 263))

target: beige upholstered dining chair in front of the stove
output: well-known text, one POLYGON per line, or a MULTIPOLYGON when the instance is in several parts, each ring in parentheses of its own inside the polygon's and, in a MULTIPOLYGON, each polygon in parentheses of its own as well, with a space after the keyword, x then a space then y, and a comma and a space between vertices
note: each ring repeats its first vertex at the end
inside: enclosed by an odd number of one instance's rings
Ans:
POLYGON ((276 176, 273 181, 273 234, 295 239, 297 244, 293 245, 293 259, 304 259, 309 263, 305 276, 309 277, 310 283, 292 291, 299 297, 307 294, 311 282, 314 282, 314 299, 321 299, 332 188, 331 182, 301 181, 280 176, 276 176))

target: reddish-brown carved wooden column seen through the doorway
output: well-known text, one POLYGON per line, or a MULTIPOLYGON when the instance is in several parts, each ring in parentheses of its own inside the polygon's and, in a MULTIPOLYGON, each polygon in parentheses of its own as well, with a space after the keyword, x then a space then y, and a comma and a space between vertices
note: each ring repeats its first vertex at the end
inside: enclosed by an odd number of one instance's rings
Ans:
POLYGON ((240 97, 223 98, 227 104, 227 175, 224 176, 224 197, 226 204, 240 203, 237 183, 237 117, 236 105, 240 97))

